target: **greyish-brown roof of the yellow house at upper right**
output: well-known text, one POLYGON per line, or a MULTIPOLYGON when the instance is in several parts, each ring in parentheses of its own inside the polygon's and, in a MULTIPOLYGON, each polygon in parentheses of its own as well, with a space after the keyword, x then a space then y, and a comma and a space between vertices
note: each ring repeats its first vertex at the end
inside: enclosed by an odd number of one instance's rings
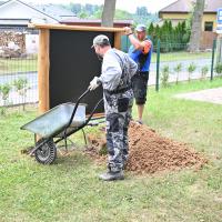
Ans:
MULTIPOLYGON (((159 13, 189 13, 194 2, 194 0, 178 0, 161 9, 159 13)), ((205 0, 205 13, 216 13, 219 8, 222 8, 222 0, 205 0)))

